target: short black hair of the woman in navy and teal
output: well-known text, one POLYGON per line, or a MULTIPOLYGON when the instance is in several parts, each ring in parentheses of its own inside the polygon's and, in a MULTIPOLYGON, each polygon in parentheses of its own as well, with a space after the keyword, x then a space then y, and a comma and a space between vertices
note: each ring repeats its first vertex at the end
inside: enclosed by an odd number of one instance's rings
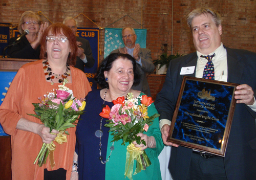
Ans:
POLYGON ((107 71, 109 72, 112 69, 112 64, 115 60, 118 58, 122 59, 128 59, 132 61, 133 63, 133 74, 134 74, 134 82, 133 84, 137 85, 140 82, 140 77, 139 77, 139 71, 137 69, 137 63, 136 60, 129 54, 121 54, 121 53, 112 53, 108 57, 106 57, 100 64, 97 75, 96 75, 96 82, 100 85, 102 88, 107 88, 109 87, 109 83, 105 81, 105 76, 104 72, 107 71))

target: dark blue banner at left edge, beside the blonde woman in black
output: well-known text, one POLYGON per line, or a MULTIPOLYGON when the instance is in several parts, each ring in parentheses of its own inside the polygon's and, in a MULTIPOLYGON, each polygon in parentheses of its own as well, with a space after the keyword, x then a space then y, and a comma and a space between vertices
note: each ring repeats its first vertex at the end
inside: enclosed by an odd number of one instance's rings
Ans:
POLYGON ((0 23, 0 57, 3 57, 3 50, 8 46, 9 40, 12 37, 12 27, 9 23, 0 23))

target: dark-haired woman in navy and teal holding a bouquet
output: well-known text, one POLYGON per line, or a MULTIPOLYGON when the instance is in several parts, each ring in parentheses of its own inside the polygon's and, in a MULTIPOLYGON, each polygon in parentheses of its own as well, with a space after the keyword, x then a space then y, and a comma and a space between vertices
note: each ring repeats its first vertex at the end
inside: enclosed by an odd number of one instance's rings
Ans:
MULTIPOLYGON (((132 89, 132 85, 139 82, 136 68, 136 60, 129 54, 113 53, 102 61, 96 76, 96 81, 102 89, 95 89, 88 94, 85 113, 80 117, 81 120, 77 124, 75 152, 78 157, 74 155, 74 161, 78 161, 80 180, 128 179, 128 177, 124 178, 124 172, 126 148, 129 143, 125 143, 125 146, 123 146, 121 145, 123 140, 119 140, 113 145, 113 142, 111 142, 113 136, 111 132, 108 132, 110 128, 104 127, 104 124, 108 122, 105 118, 101 118, 99 114, 102 111, 102 104, 111 108, 114 105, 113 100, 122 96, 126 97, 127 93, 133 93, 134 98, 144 95, 132 89), (99 130, 103 132, 101 138, 100 134, 97 133, 99 130), (101 148, 99 144, 101 144, 101 148), (114 150, 112 146, 114 146, 114 150)), ((148 106, 147 112, 148 116, 157 113, 154 103, 148 106)), ((141 147, 141 150, 145 149, 152 165, 148 166, 146 170, 133 175, 133 179, 160 180, 161 172, 157 157, 163 149, 163 141, 158 118, 154 119, 153 124, 146 132, 138 135, 145 140, 146 146, 134 142, 135 147, 141 147)), ((133 170, 135 171, 135 169, 136 161, 133 170)))

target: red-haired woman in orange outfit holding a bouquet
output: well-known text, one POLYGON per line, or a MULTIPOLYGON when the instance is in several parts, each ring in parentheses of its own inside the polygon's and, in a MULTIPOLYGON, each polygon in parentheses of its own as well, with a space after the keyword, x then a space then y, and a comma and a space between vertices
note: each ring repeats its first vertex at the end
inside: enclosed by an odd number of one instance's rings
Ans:
MULTIPOLYGON (((23 65, 8 89, 0 106, 0 123, 4 131, 11 135, 13 180, 64 180, 70 179, 71 173, 76 173, 71 172, 76 127, 67 129, 70 133, 67 143, 55 143, 54 168, 51 169, 49 159, 39 167, 33 162, 42 142, 51 143, 56 135, 51 134, 39 119, 28 115, 34 114, 32 103, 40 102, 38 97, 58 89, 64 79, 68 79, 66 86, 78 99, 86 97, 91 91, 86 75, 73 67, 76 52, 76 38, 72 31, 60 23, 51 25, 42 35, 42 60, 23 65)), ((52 132, 58 133, 55 129, 52 132)))

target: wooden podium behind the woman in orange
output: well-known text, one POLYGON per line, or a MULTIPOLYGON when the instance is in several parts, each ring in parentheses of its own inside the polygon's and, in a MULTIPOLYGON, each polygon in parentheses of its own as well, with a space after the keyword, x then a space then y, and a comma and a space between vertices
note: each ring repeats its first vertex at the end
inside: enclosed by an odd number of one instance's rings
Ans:
MULTIPOLYGON (((38 59, 0 58, 0 71, 18 71, 28 62, 38 59)), ((0 136, 0 179, 11 180, 11 137, 0 136)))

